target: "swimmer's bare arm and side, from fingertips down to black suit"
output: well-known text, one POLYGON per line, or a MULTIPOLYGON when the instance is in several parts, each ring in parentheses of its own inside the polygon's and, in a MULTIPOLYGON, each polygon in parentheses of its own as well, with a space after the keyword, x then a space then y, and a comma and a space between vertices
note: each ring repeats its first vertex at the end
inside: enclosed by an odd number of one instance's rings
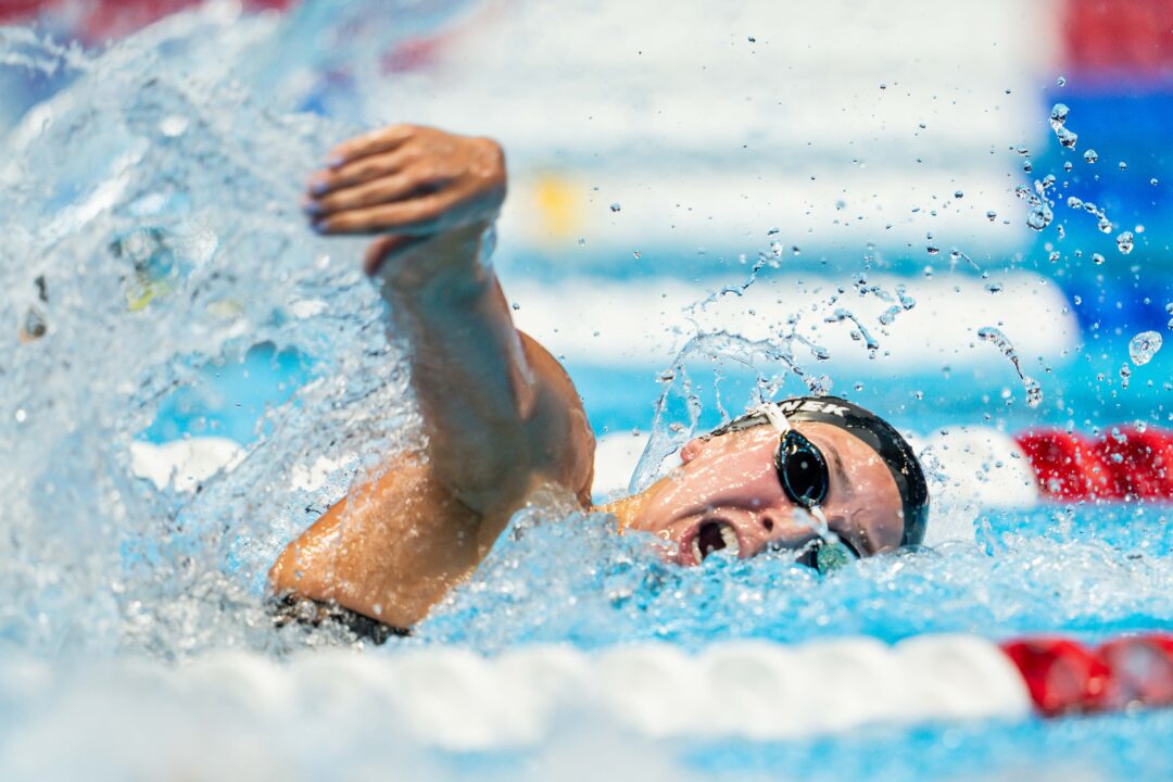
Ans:
POLYGON ((366 270, 406 340, 428 436, 282 555, 278 592, 409 625, 480 563, 544 483, 589 499, 594 437, 574 386, 516 331, 487 259, 506 172, 491 141, 396 125, 311 179, 324 233, 374 233, 366 270))

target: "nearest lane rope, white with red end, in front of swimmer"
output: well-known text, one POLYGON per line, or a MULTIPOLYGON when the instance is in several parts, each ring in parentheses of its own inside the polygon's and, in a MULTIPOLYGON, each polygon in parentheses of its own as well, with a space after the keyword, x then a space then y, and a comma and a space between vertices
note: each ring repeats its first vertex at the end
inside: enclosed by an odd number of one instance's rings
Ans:
MULTIPOLYGON (((224 725, 257 719, 274 730, 361 715, 388 735, 465 752, 533 746, 582 721, 650 739, 778 741, 867 725, 1173 706, 1171 634, 1094 650, 1059 638, 998 645, 927 634, 895 645, 727 641, 694 655, 669 644, 592 653, 524 646, 493 658, 446 646, 317 651, 283 662, 253 653, 179 666, 111 660, 72 673, 38 665, 45 675, 22 676, 19 700, 50 721, 117 708, 127 723, 103 737, 114 742, 136 741, 135 726, 150 730, 164 707, 198 714, 202 725, 223 712, 224 725)), ((0 688, 0 700, 15 694, 0 688)))

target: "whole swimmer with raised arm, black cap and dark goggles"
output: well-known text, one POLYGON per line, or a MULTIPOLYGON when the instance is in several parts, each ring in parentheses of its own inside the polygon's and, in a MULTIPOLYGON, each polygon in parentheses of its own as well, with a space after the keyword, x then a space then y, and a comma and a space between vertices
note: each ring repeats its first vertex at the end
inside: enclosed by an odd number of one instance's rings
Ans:
POLYGON ((595 438, 574 383, 517 331, 488 263, 506 197, 488 138, 393 125, 347 141, 307 186, 327 236, 368 234, 365 270, 406 341, 427 444, 388 464, 280 555, 284 618, 341 618, 381 640, 467 579, 535 492, 558 487, 698 565, 793 550, 819 569, 915 545, 928 490, 911 448, 836 397, 766 404, 689 442, 645 491, 590 504, 595 438))

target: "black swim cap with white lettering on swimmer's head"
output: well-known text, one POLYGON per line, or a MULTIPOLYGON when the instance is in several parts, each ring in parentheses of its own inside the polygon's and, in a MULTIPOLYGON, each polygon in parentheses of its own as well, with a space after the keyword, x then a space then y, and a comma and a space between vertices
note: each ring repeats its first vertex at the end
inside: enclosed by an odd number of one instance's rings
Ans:
MULTIPOLYGON (((774 402, 778 409, 793 422, 816 421, 846 429, 872 448, 896 481, 896 490, 903 505, 904 535, 901 545, 920 545, 924 540, 924 528, 929 522, 929 487, 924 471, 916 461, 913 447, 900 436, 896 428, 879 415, 838 396, 798 396, 774 402)), ((753 426, 761 413, 750 413, 730 421, 712 434, 720 435, 753 426)))

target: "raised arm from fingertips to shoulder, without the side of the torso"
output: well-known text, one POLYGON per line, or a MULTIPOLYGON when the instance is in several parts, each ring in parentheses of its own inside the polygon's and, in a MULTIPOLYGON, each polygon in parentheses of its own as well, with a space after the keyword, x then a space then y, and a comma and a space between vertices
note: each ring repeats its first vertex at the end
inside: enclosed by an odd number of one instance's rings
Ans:
POLYGON ((488 264, 504 198, 500 147, 395 125, 332 152, 307 211, 326 233, 379 233, 366 258, 406 339, 436 478, 480 514, 535 477, 589 498, 594 437, 562 367, 513 325, 488 264))

